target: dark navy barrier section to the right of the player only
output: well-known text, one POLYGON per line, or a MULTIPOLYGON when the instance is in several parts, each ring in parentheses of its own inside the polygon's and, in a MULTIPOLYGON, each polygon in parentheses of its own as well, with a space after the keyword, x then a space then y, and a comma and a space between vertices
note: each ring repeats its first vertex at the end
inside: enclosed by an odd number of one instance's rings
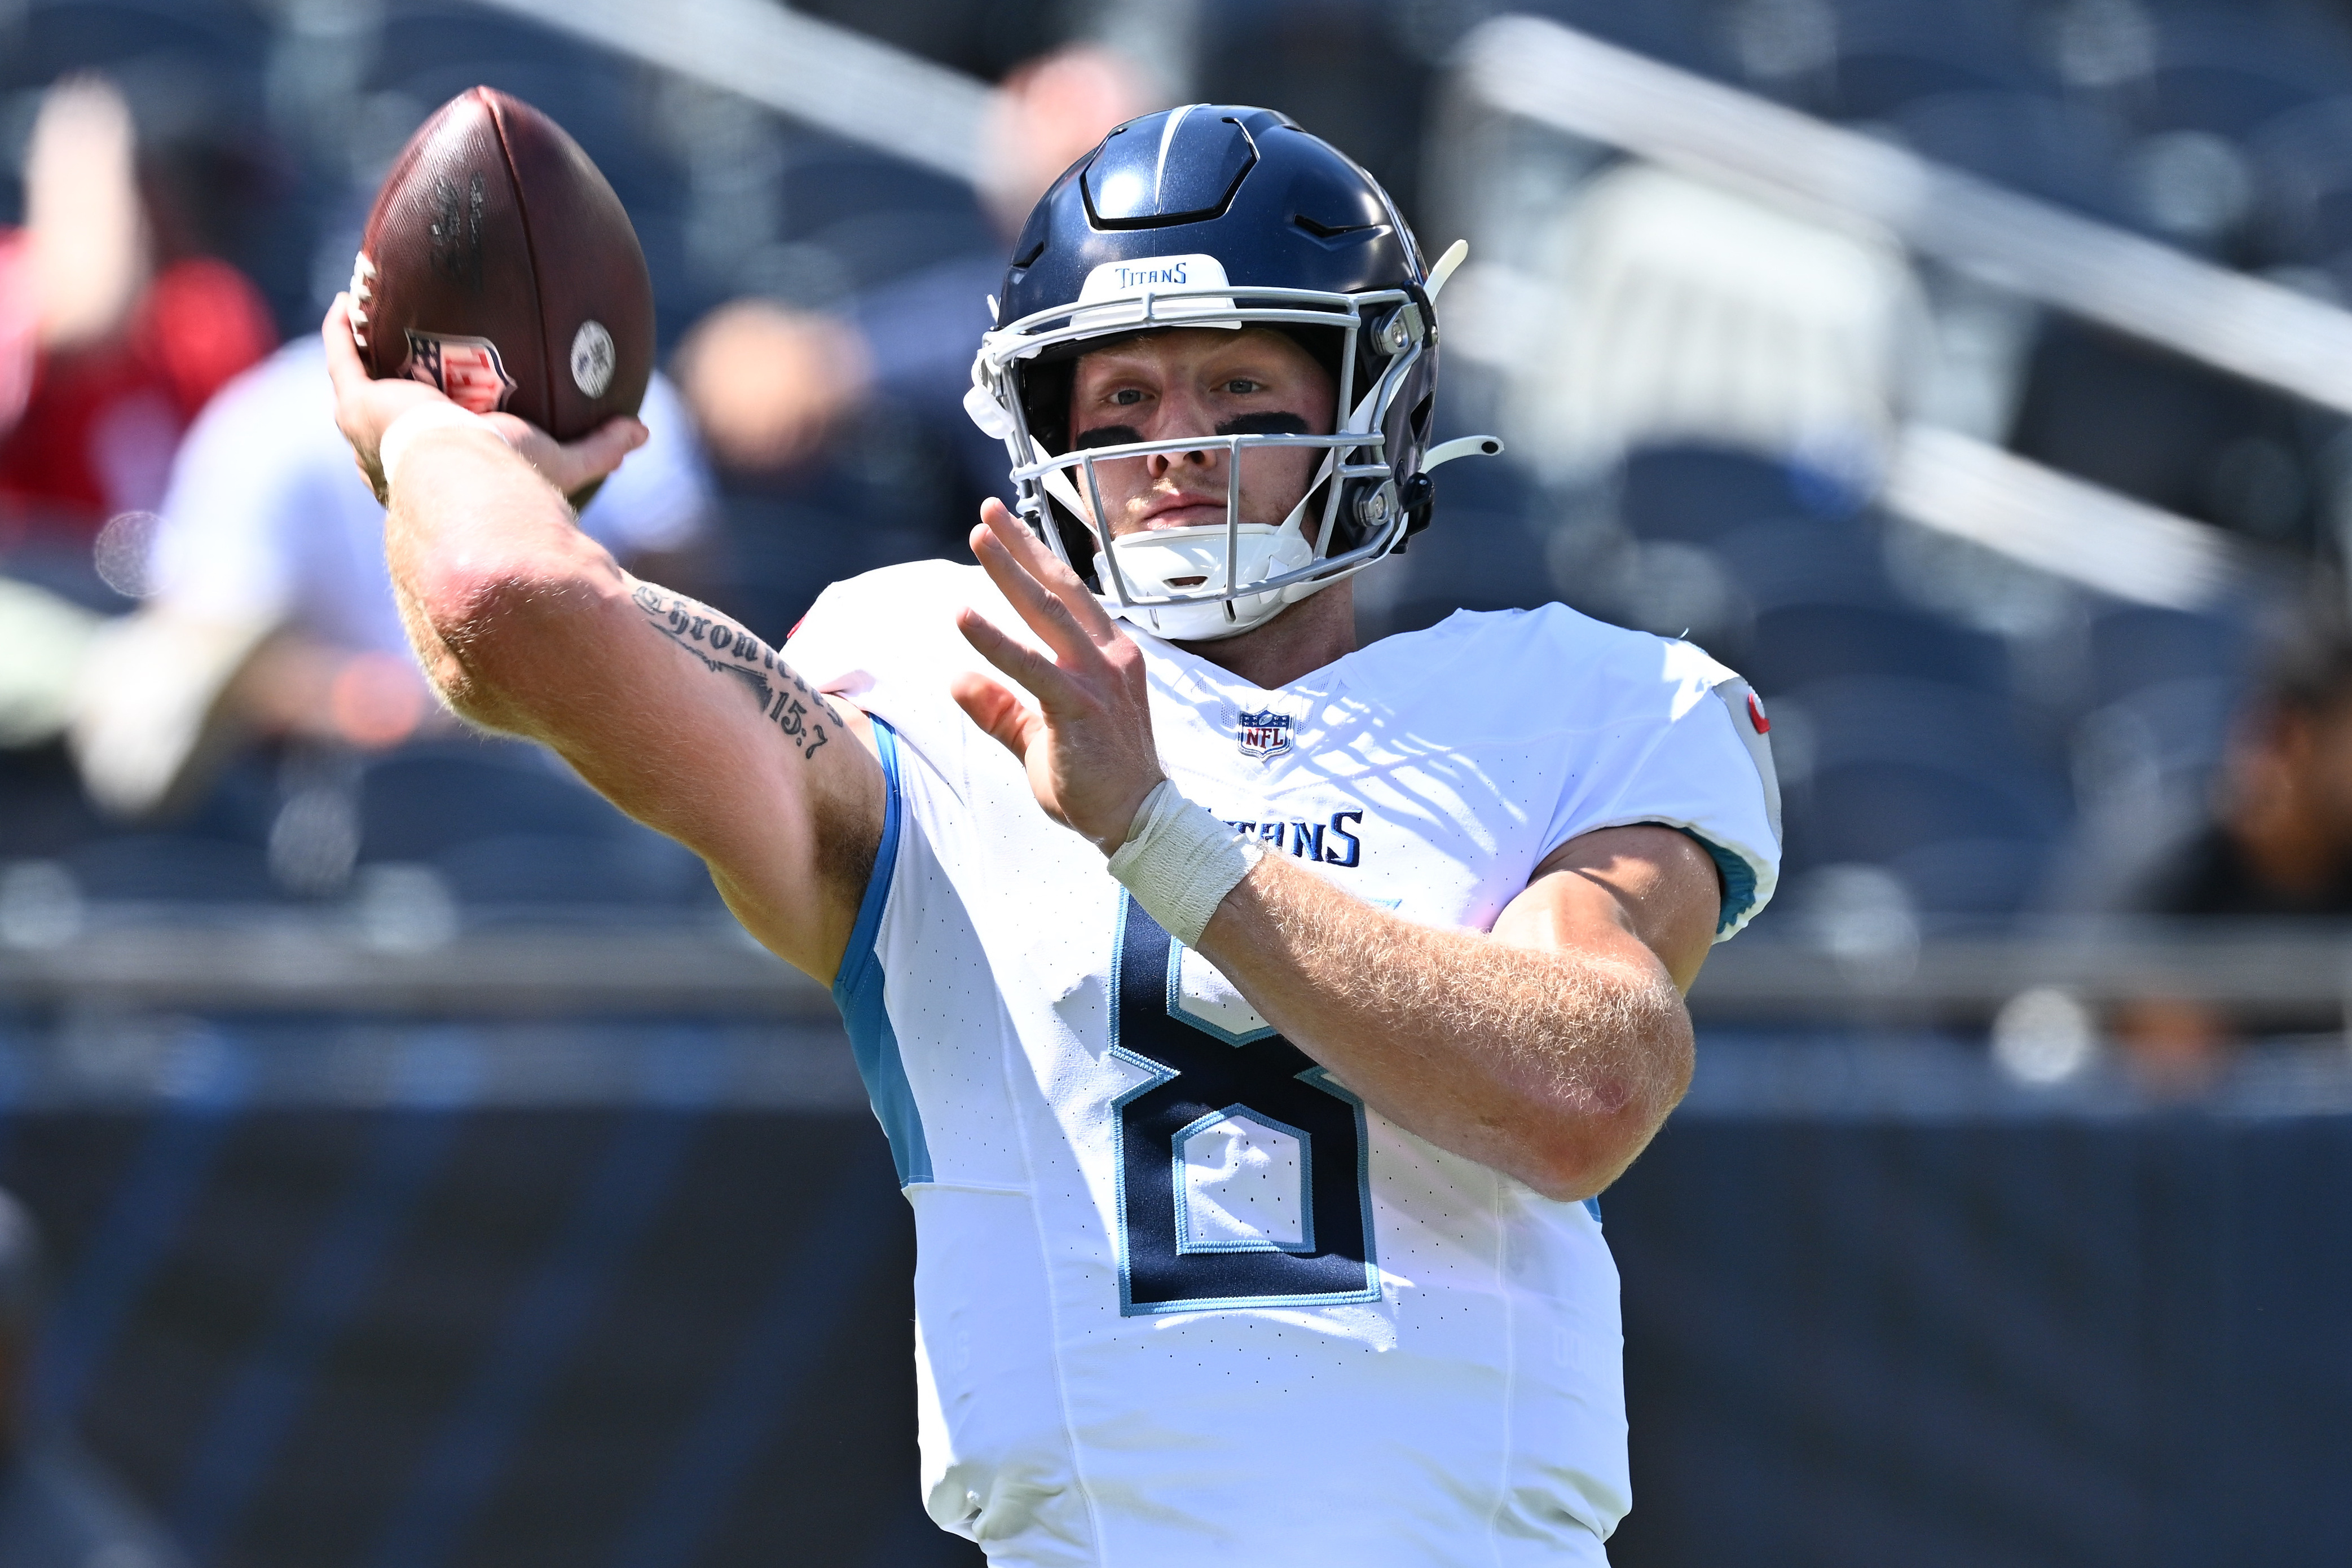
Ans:
POLYGON ((1700 1056, 1604 1199, 1618 1568, 2347 1561, 2343 1044, 2194 1110, 1933 1039, 1700 1056))

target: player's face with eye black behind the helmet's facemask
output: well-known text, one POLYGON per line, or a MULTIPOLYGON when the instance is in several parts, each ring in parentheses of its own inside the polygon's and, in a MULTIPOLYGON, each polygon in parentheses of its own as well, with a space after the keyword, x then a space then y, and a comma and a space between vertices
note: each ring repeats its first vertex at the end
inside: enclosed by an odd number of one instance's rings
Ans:
MULTIPOLYGON (((1331 376, 1296 341, 1263 327, 1183 327, 1098 348, 1070 383, 1075 447, 1188 435, 1329 435, 1331 376)), ((1308 494, 1315 447, 1242 451, 1242 522, 1279 524, 1308 494)), ((1096 463, 1110 536, 1225 522, 1228 449, 1155 451, 1096 463)), ((1073 475, 1087 494, 1084 475, 1073 475)), ((1308 520, 1315 536, 1315 520, 1308 520)))

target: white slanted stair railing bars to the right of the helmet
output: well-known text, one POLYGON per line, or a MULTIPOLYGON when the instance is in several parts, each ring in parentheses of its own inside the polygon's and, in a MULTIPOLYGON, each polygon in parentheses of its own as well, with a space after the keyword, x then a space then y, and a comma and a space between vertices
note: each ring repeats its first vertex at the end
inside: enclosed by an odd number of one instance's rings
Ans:
MULTIPOLYGON (((1536 16, 1470 31, 1451 87, 1472 118, 1613 148, 1828 230, 1886 235, 1997 292, 2352 414, 2352 310, 1889 141, 1536 16)), ((2201 609, 2260 564, 2216 527, 2044 468, 1980 433, 1910 423, 1891 440, 1882 480, 1882 503, 1910 522, 2140 604, 2201 609)))

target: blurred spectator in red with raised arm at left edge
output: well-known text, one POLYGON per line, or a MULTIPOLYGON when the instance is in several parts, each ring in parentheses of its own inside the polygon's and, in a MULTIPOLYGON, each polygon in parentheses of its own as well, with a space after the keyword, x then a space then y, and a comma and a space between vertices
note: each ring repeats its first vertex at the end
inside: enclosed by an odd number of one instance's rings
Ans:
POLYGON ((0 550, 87 545, 162 498, 181 430, 275 331, 242 273, 162 221, 106 80, 47 92, 24 186, 26 226, 0 230, 0 550))

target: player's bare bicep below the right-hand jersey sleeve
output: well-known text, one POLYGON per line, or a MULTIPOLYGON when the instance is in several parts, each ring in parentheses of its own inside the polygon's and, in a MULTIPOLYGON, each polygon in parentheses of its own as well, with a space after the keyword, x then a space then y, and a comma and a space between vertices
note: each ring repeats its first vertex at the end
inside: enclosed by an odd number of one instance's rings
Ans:
POLYGON ((1602 827, 1545 856, 1496 919, 1494 936, 1545 950, 1639 943, 1679 990, 1691 990, 1722 907, 1722 872, 1686 832, 1602 827))

